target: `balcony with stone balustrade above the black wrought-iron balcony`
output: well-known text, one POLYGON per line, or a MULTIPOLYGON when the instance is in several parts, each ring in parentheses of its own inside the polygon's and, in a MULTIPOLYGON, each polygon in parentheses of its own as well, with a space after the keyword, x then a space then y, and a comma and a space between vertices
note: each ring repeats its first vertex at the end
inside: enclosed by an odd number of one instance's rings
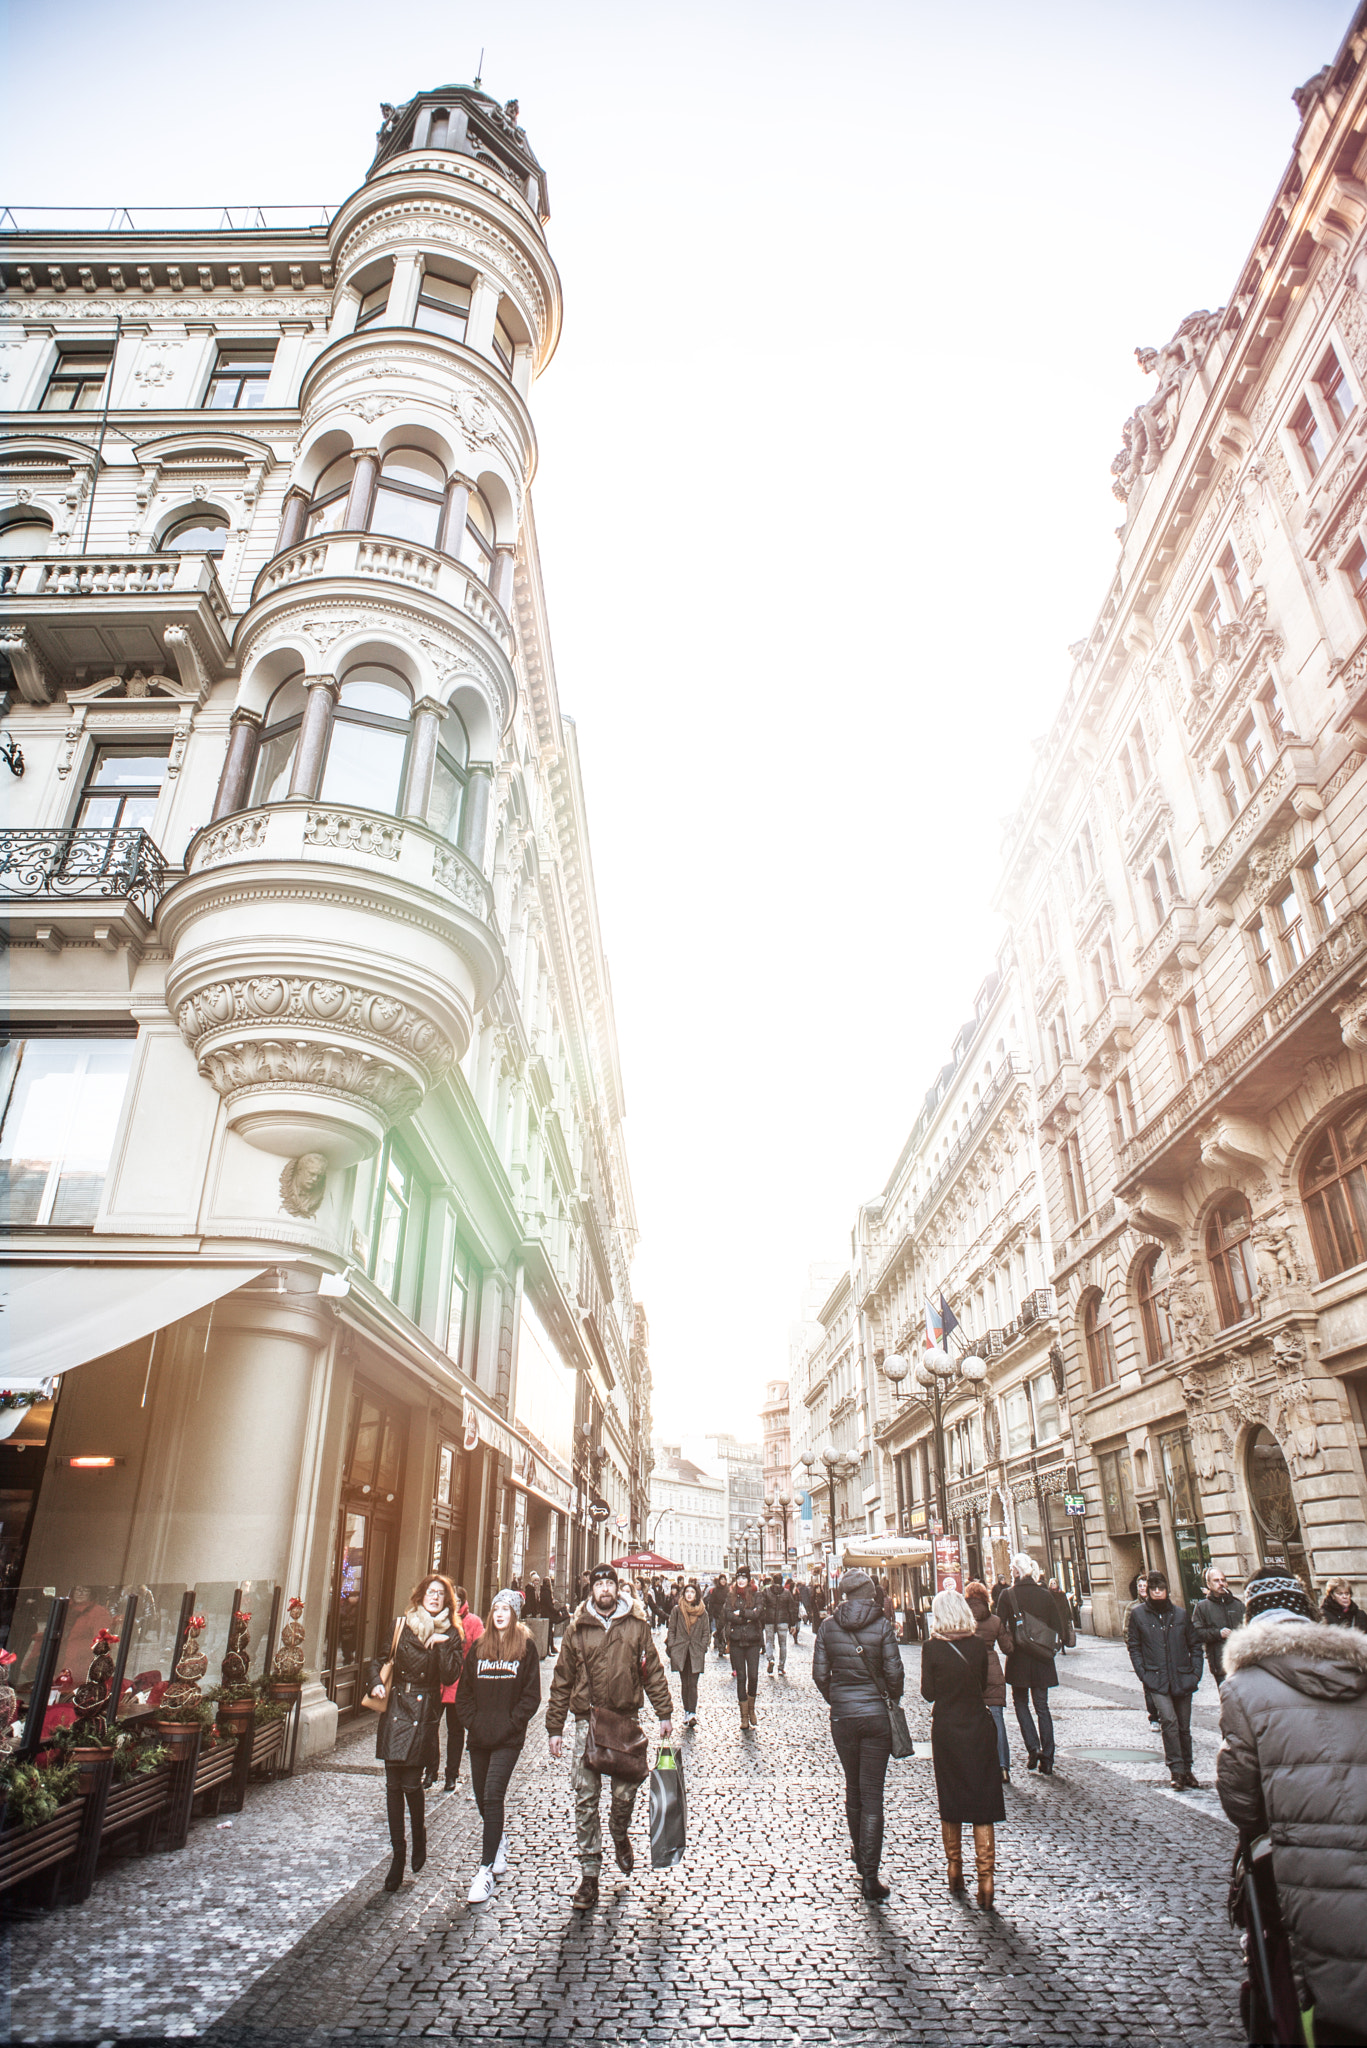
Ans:
POLYGON ((232 612, 211 555, 39 555, 0 561, 0 651, 18 694, 55 678, 176 670, 203 698, 230 664, 232 612))

